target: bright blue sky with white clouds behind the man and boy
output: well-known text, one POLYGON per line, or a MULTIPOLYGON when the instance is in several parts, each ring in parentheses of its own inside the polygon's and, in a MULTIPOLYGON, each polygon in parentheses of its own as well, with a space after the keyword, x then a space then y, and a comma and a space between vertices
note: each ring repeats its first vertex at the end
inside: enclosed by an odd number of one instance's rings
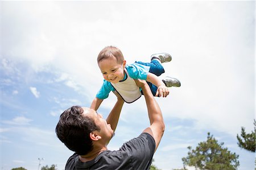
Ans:
MULTIPOLYGON (((1 1, 0 168, 64 169, 73 154, 57 139, 60 114, 89 107, 103 77, 102 48, 121 49, 127 63, 172 56, 164 76, 178 78, 156 98, 166 130, 154 163, 182 168, 188 146, 210 132, 254 169, 254 153, 237 144, 255 117, 254 1, 1 1), (40 159, 40 167, 39 167, 40 159)), ((110 94, 98 109, 106 118, 110 94)), ((118 150, 148 127, 144 98, 123 106, 108 149, 118 150)))

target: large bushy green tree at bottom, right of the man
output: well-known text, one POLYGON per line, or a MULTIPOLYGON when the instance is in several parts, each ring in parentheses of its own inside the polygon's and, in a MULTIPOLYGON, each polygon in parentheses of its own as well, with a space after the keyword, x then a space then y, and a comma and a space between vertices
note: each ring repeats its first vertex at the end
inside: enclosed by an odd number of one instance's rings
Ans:
POLYGON ((196 169, 237 169, 240 165, 239 155, 231 153, 223 145, 224 143, 218 144, 218 141, 208 132, 206 142, 200 142, 195 150, 191 146, 188 147, 188 156, 182 158, 184 167, 188 165, 196 169))

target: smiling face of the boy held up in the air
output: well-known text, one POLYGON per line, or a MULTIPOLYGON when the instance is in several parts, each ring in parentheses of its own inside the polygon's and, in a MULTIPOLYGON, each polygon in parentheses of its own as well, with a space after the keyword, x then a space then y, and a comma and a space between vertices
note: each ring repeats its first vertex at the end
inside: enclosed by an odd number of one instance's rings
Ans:
POLYGON ((100 61, 98 67, 100 67, 104 79, 115 84, 123 80, 125 64, 126 61, 123 61, 122 64, 118 64, 117 59, 112 58, 100 61))

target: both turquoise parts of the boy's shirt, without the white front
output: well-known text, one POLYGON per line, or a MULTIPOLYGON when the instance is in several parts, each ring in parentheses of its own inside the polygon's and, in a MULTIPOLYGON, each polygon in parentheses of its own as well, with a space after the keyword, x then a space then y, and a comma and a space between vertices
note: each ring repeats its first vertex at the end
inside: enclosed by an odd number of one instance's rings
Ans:
MULTIPOLYGON (((147 80, 147 73, 149 72, 150 67, 138 63, 133 64, 127 64, 126 70, 129 74, 129 76, 133 79, 141 79, 141 80, 147 80)), ((125 74, 125 77, 123 80, 126 80, 127 75, 125 74)), ((109 97, 109 93, 111 91, 115 91, 114 87, 109 81, 103 80, 103 84, 101 86, 101 89, 98 91, 96 97, 100 99, 105 99, 109 97)))

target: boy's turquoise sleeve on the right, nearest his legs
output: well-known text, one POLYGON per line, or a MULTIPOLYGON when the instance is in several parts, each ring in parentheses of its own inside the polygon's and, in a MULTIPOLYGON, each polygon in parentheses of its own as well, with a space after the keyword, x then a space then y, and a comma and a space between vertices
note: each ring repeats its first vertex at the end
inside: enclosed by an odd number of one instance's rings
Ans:
POLYGON ((139 63, 127 64, 127 72, 129 76, 134 79, 147 80, 147 74, 150 67, 139 63))

